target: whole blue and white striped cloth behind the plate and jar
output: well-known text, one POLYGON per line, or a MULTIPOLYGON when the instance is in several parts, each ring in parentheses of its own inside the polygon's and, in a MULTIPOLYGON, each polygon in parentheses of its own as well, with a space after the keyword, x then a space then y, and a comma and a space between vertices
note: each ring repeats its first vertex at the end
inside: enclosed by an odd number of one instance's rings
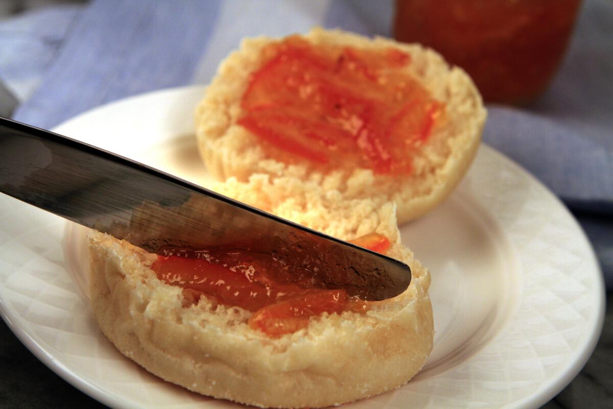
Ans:
MULTIPOLYGON (((51 128, 126 96, 207 83, 245 36, 314 25, 389 36, 393 7, 390 0, 94 0, 0 21, 0 81, 27 94, 15 119, 51 128)), ((484 137, 578 214, 601 218, 584 227, 613 286, 612 78, 613 2, 586 0, 549 91, 525 109, 490 106, 484 137)))

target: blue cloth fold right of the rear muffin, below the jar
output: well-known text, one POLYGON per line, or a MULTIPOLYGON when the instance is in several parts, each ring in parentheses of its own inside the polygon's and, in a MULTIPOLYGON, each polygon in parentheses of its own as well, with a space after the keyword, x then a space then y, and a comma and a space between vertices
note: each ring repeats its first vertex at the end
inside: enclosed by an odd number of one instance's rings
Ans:
POLYGON ((611 148, 543 115, 508 107, 489 107, 484 140, 571 207, 613 215, 611 148))

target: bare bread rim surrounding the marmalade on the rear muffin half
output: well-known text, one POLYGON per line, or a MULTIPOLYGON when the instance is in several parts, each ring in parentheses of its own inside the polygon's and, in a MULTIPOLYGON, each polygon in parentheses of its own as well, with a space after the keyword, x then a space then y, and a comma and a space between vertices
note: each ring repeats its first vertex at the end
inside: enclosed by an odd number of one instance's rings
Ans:
POLYGON ((394 48, 409 55, 410 63, 403 72, 444 105, 446 118, 427 142, 411 151, 411 172, 378 174, 366 167, 323 171, 308 160, 282 161, 268 155, 262 140, 238 123, 252 75, 270 60, 264 56, 265 48, 283 40, 268 37, 243 40, 240 50, 220 64, 197 108, 197 140, 208 170, 218 180, 236 177, 246 182, 250 175, 261 173, 313 181, 349 199, 382 196, 397 205, 398 223, 435 207, 466 173, 481 141, 486 112, 470 77, 459 67, 449 66, 438 53, 417 44, 324 29, 313 29, 301 37, 313 47, 394 48))

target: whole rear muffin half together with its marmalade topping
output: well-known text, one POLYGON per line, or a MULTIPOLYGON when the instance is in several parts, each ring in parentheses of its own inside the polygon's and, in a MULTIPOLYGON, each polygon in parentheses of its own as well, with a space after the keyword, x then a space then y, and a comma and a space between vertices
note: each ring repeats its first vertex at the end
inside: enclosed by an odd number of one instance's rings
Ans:
POLYGON ((432 50, 314 29, 244 40, 207 88, 197 138, 219 180, 289 176, 382 197, 403 223, 457 185, 485 116, 468 75, 432 50))

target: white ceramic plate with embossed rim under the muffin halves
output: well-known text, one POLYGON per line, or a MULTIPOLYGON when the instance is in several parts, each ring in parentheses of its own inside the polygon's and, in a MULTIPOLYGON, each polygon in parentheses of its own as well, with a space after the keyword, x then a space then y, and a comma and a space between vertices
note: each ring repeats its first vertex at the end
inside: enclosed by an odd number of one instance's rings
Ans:
MULTIPOLYGON (((202 88, 92 110, 55 131, 206 185, 192 112, 202 88)), ((58 375, 116 408, 229 407, 118 353, 85 293, 82 230, 0 195, 0 310, 58 375)), ((401 228, 432 271, 435 345, 406 386, 351 407, 539 407, 579 372, 603 319, 592 248, 565 207, 487 146, 455 193, 401 228)), ((58 397, 58 400, 61 397, 58 397)))

